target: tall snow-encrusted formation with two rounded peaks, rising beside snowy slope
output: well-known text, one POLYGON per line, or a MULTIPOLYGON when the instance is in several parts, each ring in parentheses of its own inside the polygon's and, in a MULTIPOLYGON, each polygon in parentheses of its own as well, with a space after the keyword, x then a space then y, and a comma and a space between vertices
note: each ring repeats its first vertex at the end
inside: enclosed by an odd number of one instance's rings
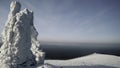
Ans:
POLYGON ((20 9, 19 2, 11 3, 2 33, 0 68, 26 68, 44 63, 44 52, 33 24, 33 12, 20 9))

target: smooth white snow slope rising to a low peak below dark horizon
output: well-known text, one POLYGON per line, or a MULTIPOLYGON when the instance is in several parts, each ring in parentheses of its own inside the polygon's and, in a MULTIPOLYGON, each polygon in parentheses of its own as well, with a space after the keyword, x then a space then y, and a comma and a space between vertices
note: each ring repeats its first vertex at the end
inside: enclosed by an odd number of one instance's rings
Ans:
POLYGON ((45 68, 120 68, 120 57, 95 53, 70 60, 45 60, 45 63, 49 63, 45 68))

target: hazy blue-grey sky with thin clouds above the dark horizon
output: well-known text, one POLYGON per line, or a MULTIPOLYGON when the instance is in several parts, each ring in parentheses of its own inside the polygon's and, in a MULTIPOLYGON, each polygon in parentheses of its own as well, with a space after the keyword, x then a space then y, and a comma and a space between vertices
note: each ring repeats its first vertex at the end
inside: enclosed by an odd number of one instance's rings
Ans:
MULTIPOLYGON (((0 0, 0 32, 12 0, 0 0)), ((120 42, 120 0, 17 0, 42 41, 120 42)))

